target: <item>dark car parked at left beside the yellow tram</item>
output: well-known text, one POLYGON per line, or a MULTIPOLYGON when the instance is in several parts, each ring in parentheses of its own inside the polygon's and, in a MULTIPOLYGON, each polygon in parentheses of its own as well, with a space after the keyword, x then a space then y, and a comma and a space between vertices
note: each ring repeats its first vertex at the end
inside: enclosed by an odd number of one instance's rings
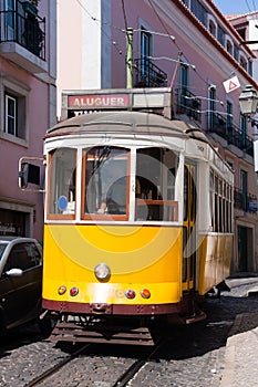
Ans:
POLYGON ((32 238, 0 237, 0 332, 41 313, 42 248, 32 238))

